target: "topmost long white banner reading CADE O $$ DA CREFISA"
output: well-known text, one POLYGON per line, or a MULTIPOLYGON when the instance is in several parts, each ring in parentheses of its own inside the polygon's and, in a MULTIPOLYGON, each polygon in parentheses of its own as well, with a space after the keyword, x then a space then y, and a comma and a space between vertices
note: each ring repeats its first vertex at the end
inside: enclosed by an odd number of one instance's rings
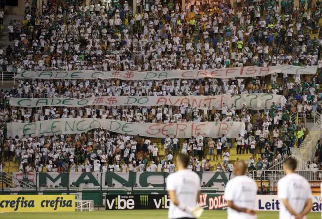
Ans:
POLYGON ((166 80, 166 79, 198 79, 198 78, 234 78, 256 77, 272 73, 315 74, 318 66, 299 67, 280 65, 272 67, 236 67, 213 70, 172 70, 172 71, 23 71, 16 79, 121 79, 121 80, 166 80))

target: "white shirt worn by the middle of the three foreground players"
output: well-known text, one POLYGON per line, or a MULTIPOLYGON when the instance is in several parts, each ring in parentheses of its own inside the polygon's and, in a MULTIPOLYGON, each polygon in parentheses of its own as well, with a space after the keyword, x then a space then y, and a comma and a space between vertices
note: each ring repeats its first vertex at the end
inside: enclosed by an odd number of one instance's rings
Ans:
MULTIPOLYGON (((255 210, 255 197, 257 194, 256 182, 247 176, 236 176, 229 180, 225 189, 225 199, 241 208, 255 210)), ((256 216, 237 212, 228 208, 228 219, 256 219, 256 216)))

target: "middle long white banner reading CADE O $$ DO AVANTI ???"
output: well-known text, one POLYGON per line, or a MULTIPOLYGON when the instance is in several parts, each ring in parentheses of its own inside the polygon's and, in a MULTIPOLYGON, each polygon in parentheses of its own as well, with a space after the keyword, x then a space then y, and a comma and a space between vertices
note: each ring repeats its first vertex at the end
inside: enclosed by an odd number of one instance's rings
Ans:
POLYGON ((273 94, 241 94, 241 95, 215 95, 215 96, 98 96, 84 99, 74 98, 10 98, 10 105, 17 107, 44 107, 44 106, 63 106, 63 107, 83 107, 88 105, 104 106, 185 106, 191 105, 192 108, 209 109, 213 106, 221 110, 223 104, 229 108, 232 104, 237 109, 241 109, 245 104, 249 109, 262 110, 269 109, 272 103, 276 105, 286 104, 286 99, 282 95, 273 94))

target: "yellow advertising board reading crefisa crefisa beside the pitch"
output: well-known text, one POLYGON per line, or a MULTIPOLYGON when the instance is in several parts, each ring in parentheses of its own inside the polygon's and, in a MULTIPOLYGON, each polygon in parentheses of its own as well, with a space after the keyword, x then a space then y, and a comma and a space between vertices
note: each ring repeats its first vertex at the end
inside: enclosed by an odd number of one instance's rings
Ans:
POLYGON ((0 211, 74 212, 75 195, 0 195, 0 211))

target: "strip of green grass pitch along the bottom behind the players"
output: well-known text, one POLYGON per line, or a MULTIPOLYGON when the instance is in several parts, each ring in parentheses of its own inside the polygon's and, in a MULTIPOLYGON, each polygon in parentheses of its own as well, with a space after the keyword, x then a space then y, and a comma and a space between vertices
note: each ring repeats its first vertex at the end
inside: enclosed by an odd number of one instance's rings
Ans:
MULTIPOLYGON (((66 213, 2 213, 3 219, 167 219, 167 210, 94 210, 66 213)), ((226 211, 205 211, 200 219, 226 219, 226 211)), ((278 212, 258 212, 258 219, 278 219, 278 212)), ((307 219, 321 219, 321 213, 310 213, 307 219)))

